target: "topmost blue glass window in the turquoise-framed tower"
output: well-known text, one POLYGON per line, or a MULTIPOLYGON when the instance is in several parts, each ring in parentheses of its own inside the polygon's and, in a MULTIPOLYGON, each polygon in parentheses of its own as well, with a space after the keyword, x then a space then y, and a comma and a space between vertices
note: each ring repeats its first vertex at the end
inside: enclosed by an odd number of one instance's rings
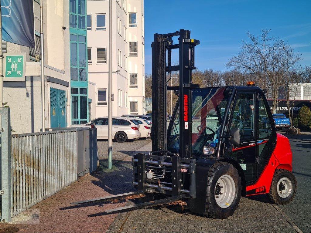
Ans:
POLYGON ((69 0, 69 26, 71 28, 85 29, 86 0, 69 0))

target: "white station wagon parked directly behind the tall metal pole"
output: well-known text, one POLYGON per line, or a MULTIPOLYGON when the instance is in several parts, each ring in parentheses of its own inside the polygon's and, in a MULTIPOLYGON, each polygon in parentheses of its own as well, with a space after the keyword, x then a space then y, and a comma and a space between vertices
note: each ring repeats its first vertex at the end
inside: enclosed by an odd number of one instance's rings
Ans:
MULTIPOLYGON (((85 124, 92 127, 95 123, 97 129, 97 139, 108 139, 108 117, 98 117, 85 124)), ((117 142, 125 142, 127 139, 139 139, 141 132, 139 125, 136 125, 128 118, 113 117, 112 118, 112 137, 117 142)))

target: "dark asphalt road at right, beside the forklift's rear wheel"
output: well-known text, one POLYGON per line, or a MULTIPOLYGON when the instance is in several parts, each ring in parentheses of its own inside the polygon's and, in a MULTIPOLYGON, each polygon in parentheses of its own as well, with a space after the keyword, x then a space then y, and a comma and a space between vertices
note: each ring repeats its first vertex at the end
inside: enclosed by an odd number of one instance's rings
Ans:
POLYGON ((298 188, 294 201, 279 207, 304 233, 311 233, 311 135, 285 136, 290 139, 298 188))

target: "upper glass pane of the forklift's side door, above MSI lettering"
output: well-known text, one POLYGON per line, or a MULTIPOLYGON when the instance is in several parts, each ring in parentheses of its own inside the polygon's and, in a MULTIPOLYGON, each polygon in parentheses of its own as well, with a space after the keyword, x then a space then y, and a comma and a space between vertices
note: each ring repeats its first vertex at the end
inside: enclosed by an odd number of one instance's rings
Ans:
POLYGON ((238 94, 232 114, 230 129, 239 129, 240 138, 254 137, 254 94, 238 94))

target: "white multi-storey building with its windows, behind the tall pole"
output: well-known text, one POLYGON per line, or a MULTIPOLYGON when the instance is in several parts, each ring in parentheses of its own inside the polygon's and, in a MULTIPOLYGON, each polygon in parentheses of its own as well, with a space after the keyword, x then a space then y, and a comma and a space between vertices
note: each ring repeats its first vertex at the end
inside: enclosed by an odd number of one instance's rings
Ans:
MULTIPOLYGON (((145 48, 143 0, 112 1, 113 115, 143 114, 145 48)), ((88 79, 95 83, 92 118, 108 116, 109 0, 87 0, 88 79)))

